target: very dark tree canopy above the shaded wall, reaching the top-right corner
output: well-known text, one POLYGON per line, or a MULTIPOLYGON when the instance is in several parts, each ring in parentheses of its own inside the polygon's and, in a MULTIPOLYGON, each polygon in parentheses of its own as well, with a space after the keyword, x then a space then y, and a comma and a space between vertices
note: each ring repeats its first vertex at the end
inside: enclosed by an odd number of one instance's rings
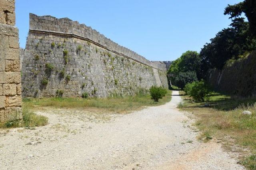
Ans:
POLYGON ((255 0, 245 0, 225 8, 224 14, 230 15, 232 23, 230 27, 218 32, 210 39, 210 43, 206 43, 201 49, 201 76, 205 76, 209 68, 222 69, 228 60, 243 58, 256 49, 256 39, 252 36, 256 30, 255 2, 255 0), (242 13, 249 22, 241 17, 242 13))

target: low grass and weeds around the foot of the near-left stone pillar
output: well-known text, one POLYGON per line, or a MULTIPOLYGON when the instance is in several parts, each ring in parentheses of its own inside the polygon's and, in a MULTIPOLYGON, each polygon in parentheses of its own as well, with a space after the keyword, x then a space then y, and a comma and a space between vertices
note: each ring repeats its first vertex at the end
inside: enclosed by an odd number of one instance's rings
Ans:
POLYGON ((0 128, 20 128, 20 127, 36 127, 44 126, 48 123, 48 118, 35 114, 32 110, 28 110, 22 106, 22 120, 12 120, 0 123, 0 128))

